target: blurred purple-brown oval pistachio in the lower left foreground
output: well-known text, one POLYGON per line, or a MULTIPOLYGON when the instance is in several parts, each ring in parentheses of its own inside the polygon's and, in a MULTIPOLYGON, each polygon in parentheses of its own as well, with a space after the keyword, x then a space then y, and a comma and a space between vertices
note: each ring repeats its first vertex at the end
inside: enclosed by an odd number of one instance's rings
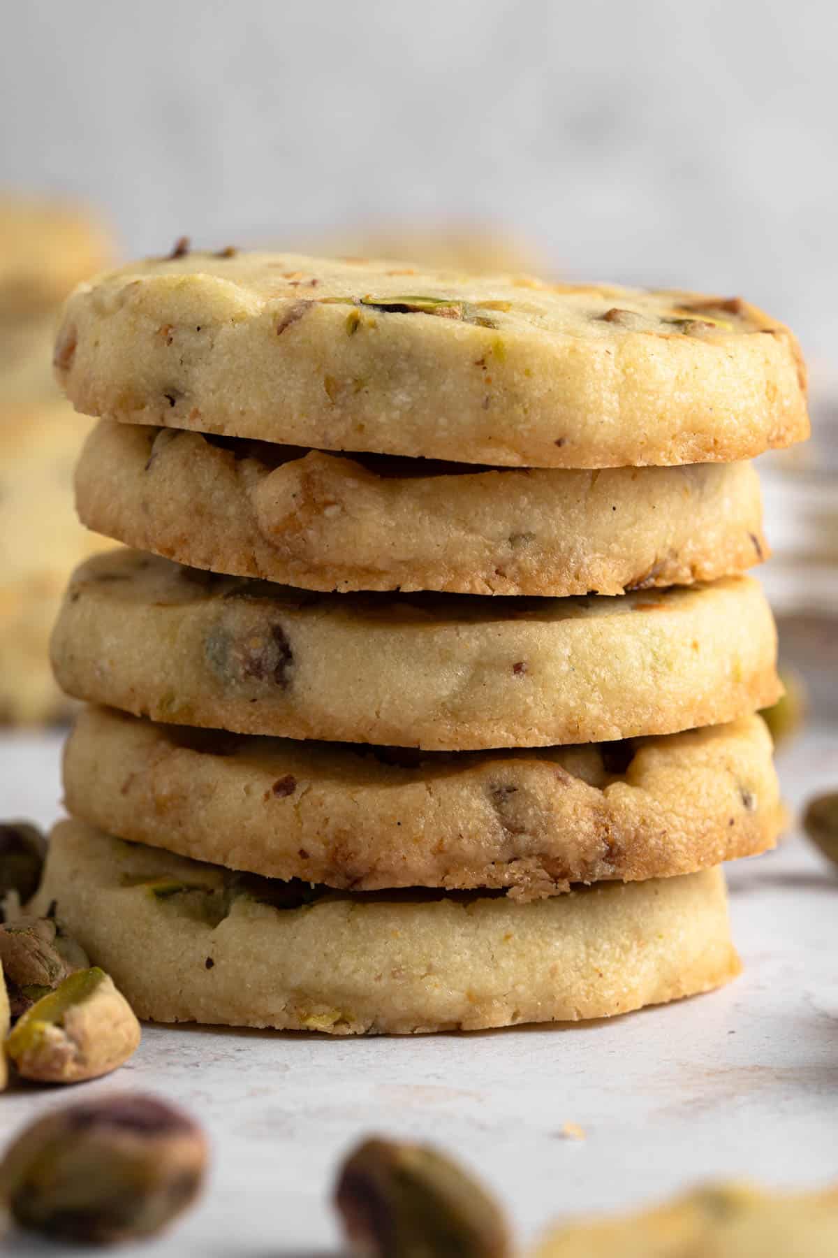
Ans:
POLYGON ((13 1141, 0 1193, 18 1224, 58 1240, 153 1235, 197 1196, 197 1123, 157 1097, 112 1094, 48 1113, 13 1141))

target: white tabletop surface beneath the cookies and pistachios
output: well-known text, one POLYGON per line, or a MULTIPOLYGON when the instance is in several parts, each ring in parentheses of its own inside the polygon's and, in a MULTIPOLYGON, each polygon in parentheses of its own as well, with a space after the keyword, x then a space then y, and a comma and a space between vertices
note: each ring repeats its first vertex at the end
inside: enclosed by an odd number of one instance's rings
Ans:
MULTIPOLYGON (((838 727, 810 730, 780 771, 793 808, 838 785, 838 727)), ((3 815, 55 814, 58 738, 6 738, 0 772, 3 815)), ((613 1021, 358 1040, 147 1028, 134 1059, 84 1096, 151 1088, 181 1102, 210 1131, 214 1169, 178 1228, 121 1253, 333 1252, 334 1167, 371 1131, 464 1157, 506 1201, 521 1239, 559 1214, 634 1205, 712 1176, 838 1180, 838 877, 792 835, 732 867, 730 883, 744 975, 613 1021), (565 1122, 587 1138, 564 1137, 565 1122)), ((4 1138, 80 1094, 10 1092, 4 1138)), ((19 1234, 0 1243, 0 1254, 35 1252, 19 1234)))

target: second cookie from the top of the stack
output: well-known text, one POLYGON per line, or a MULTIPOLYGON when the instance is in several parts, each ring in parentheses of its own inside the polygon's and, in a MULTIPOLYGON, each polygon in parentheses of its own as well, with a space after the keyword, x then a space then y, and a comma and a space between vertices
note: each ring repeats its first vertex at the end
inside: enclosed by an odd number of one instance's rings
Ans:
POLYGON ((314 590, 622 594, 741 572, 768 550, 749 463, 485 470, 102 420, 75 488, 108 537, 314 590))

